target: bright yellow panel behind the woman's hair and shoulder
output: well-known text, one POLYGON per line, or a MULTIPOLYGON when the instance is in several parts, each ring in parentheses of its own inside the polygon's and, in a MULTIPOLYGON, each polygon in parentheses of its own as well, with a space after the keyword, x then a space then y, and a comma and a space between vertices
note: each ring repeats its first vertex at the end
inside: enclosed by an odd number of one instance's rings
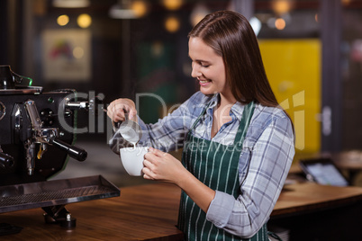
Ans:
POLYGON ((294 122, 295 150, 321 149, 321 41, 259 40, 267 78, 294 122))

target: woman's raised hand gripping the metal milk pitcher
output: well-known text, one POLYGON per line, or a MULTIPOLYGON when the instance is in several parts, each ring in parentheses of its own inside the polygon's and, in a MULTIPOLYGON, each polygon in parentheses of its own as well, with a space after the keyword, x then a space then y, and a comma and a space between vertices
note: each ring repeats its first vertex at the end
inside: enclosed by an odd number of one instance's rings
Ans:
POLYGON ((107 107, 107 115, 113 122, 124 121, 125 113, 128 113, 128 119, 136 119, 136 105, 130 99, 117 99, 107 107))

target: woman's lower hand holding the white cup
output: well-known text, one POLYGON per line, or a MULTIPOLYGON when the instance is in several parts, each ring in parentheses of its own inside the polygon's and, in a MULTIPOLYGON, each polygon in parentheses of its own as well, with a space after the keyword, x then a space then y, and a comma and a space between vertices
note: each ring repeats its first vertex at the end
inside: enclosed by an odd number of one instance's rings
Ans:
POLYGON ((186 169, 174 156, 163 151, 149 147, 149 153, 143 161, 143 178, 176 183, 180 175, 185 174, 186 169))

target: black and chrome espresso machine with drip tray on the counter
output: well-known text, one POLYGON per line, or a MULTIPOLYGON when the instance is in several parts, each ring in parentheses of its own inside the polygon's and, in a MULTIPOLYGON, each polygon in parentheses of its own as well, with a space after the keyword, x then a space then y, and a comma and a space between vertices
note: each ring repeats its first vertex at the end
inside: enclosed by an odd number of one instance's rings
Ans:
POLYGON ((77 99, 75 90, 43 92, 32 79, 0 66, 0 215, 41 208, 46 222, 72 228, 66 204, 120 195, 101 175, 50 180, 68 157, 86 160, 86 150, 74 146, 77 117, 99 106, 96 98, 77 99))

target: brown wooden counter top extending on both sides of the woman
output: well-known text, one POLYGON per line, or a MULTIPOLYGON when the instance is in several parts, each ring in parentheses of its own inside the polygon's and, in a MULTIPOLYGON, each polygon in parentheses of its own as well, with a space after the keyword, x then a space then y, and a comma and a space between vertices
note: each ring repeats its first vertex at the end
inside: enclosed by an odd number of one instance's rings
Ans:
MULTIPOLYGON (((152 183, 121 189, 121 196, 67 205, 77 227, 67 230, 46 224, 43 210, 19 210, 0 214, 0 223, 22 227, 19 234, 1 240, 180 240, 176 228, 180 189, 169 183, 152 183)), ((287 185, 272 218, 333 209, 362 203, 362 188, 287 185)))

